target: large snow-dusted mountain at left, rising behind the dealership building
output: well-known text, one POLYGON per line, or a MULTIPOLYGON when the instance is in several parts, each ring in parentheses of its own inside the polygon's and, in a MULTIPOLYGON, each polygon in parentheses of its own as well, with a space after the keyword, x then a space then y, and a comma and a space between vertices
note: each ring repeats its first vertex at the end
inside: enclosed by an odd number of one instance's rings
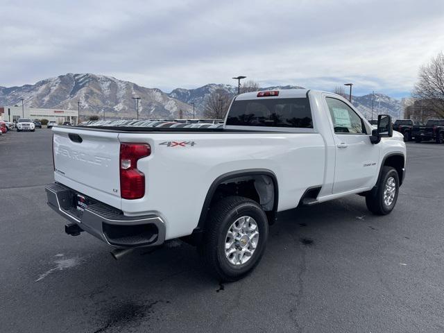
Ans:
POLYGON ((136 101, 139 117, 177 118, 192 114, 192 107, 173 99, 160 89, 141 87, 111 76, 65 74, 41 80, 35 85, 0 87, 0 105, 15 105, 24 99, 28 108, 76 109, 80 101, 82 114, 103 114, 107 117, 135 117, 136 101))

